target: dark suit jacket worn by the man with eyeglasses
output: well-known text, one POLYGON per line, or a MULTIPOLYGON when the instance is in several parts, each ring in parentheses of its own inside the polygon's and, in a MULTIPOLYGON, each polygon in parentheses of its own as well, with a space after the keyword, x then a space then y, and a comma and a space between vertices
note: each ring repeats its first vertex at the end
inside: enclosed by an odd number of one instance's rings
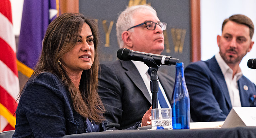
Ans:
MULTIPOLYGON (((117 60, 100 66, 98 93, 107 111, 107 129, 127 129, 141 121, 152 99, 135 65, 117 60)), ((160 71, 158 78, 171 102, 174 80, 160 71)))

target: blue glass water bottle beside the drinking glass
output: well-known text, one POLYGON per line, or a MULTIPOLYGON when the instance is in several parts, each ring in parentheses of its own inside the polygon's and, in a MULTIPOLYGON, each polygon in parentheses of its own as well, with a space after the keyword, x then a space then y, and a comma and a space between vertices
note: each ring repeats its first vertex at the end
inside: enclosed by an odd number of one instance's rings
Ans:
POLYGON ((190 103, 184 77, 183 63, 176 63, 175 85, 172 93, 172 129, 189 129, 190 103))

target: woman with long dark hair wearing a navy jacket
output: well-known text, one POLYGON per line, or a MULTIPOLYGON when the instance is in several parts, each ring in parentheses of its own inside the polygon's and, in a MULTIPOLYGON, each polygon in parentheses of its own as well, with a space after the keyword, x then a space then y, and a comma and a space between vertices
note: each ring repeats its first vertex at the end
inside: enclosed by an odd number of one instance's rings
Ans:
POLYGON ((19 94, 13 137, 105 130, 97 44, 96 23, 82 14, 62 14, 50 23, 41 57, 19 94))

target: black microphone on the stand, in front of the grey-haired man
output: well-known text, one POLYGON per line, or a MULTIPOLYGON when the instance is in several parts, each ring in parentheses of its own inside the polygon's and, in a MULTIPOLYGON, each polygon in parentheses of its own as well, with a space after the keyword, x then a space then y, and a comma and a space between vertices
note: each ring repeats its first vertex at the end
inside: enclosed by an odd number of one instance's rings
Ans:
POLYGON ((172 58, 170 56, 133 51, 127 48, 120 48, 117 50, 117 58, 121 60, 134 60, 143 62, 145 55, 152 56, 157 65, 176 65, 176 63, 179 62, 179 59, 172 58))

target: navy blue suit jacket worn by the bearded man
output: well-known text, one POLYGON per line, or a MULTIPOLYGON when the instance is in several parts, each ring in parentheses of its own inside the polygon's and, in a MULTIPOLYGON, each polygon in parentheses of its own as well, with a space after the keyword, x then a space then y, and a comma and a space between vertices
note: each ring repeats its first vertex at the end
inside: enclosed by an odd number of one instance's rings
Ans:
MULTIPOLYGON (((232 105, 226 81, 215 56, 207 61, 199 61, 187 66, 185 80, 190 96, 192 120, 224 121, 232 105)), ((249 98, 256 95, 255 84, 242 76, 238 80, 238 89, 241 105, 252 106, 249 98)))

